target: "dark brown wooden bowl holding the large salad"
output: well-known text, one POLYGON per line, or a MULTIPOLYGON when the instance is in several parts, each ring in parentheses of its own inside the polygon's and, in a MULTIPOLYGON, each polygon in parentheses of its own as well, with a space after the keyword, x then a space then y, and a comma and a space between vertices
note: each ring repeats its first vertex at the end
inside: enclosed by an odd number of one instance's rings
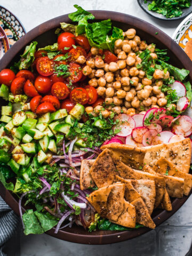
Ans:
MULTIPOLYGON (((154 27, 150 23, 141 19, 135 18, 131 15, 110 12, 110 11, 91 11, 95 16, 95 20, 105 20, 110 18, 113 21, 113 25, 126 31, 129 28, 135 28, 137 35, 142 40, 146 40, 148 44, 154 43, 160 49, 167 49, 168 55, 171 57, 170 62, 173 66, 178 68, 185 68, 190 70, 189 81, 192 83, 192 65, 191 60, 187 54, 177 45, 171 37, 167 36, 163 31, 154 27)), ((12 65, 15 61, 18 61, 20 54, 22 54, 25 46, 32 41, 38 42, 38 47, 44 47, 45 45, 51 45, 57 42, 57 35, 54 34, 56 28, 60 27, 60 22, 70 23, 68 14, 46 21, 36 28, 30 30, 25 36, 23 36, 17 43, 15 43, 11 49, 4 55, 0 61, 0 70, 12 65)), ((0 100, 0 105, 4 105, 5 101, 0 100)), ((191 194, 191 191, 190 191, 191 194)), ((189 194, 189 196, 190 196, 189 194)), ((0 184, 0 195, 5 202, 13 209, 13 211, 19 215, 18 197, 13 195, 10 191, 6 190, 2 183, 0 184)), ((152 218, 156 226, 171 217, 177 210, 187 201, 189 196, 183 196, 181 199, 172 198, 173 210, 167 212, 165 210, 156 209, 152 218)), ((23 209, 24 210, 24 209, 23 209)), ((127 239, 131 239, 140 236, 148 231, 149 228, 143 227, 134 229, 132 231, 103 231, 97 230, 89 233, 81 226, 74 225, 72 228, 65 228, 59 230, 58 234, 54 234, 54 228, 47 231, 46 234, 57 237, 59 239, 81 243, 81 244, 111 244, 122 242, 127 239)))

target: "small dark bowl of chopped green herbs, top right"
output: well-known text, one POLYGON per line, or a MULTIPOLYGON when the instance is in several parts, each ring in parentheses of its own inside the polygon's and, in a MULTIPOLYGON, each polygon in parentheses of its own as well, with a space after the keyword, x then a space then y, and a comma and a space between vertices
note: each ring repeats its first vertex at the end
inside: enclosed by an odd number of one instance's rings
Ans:
POLYGON ((138 0, 149 15, 161 20, 179 20, 192 12, 191 0, 138 0))

